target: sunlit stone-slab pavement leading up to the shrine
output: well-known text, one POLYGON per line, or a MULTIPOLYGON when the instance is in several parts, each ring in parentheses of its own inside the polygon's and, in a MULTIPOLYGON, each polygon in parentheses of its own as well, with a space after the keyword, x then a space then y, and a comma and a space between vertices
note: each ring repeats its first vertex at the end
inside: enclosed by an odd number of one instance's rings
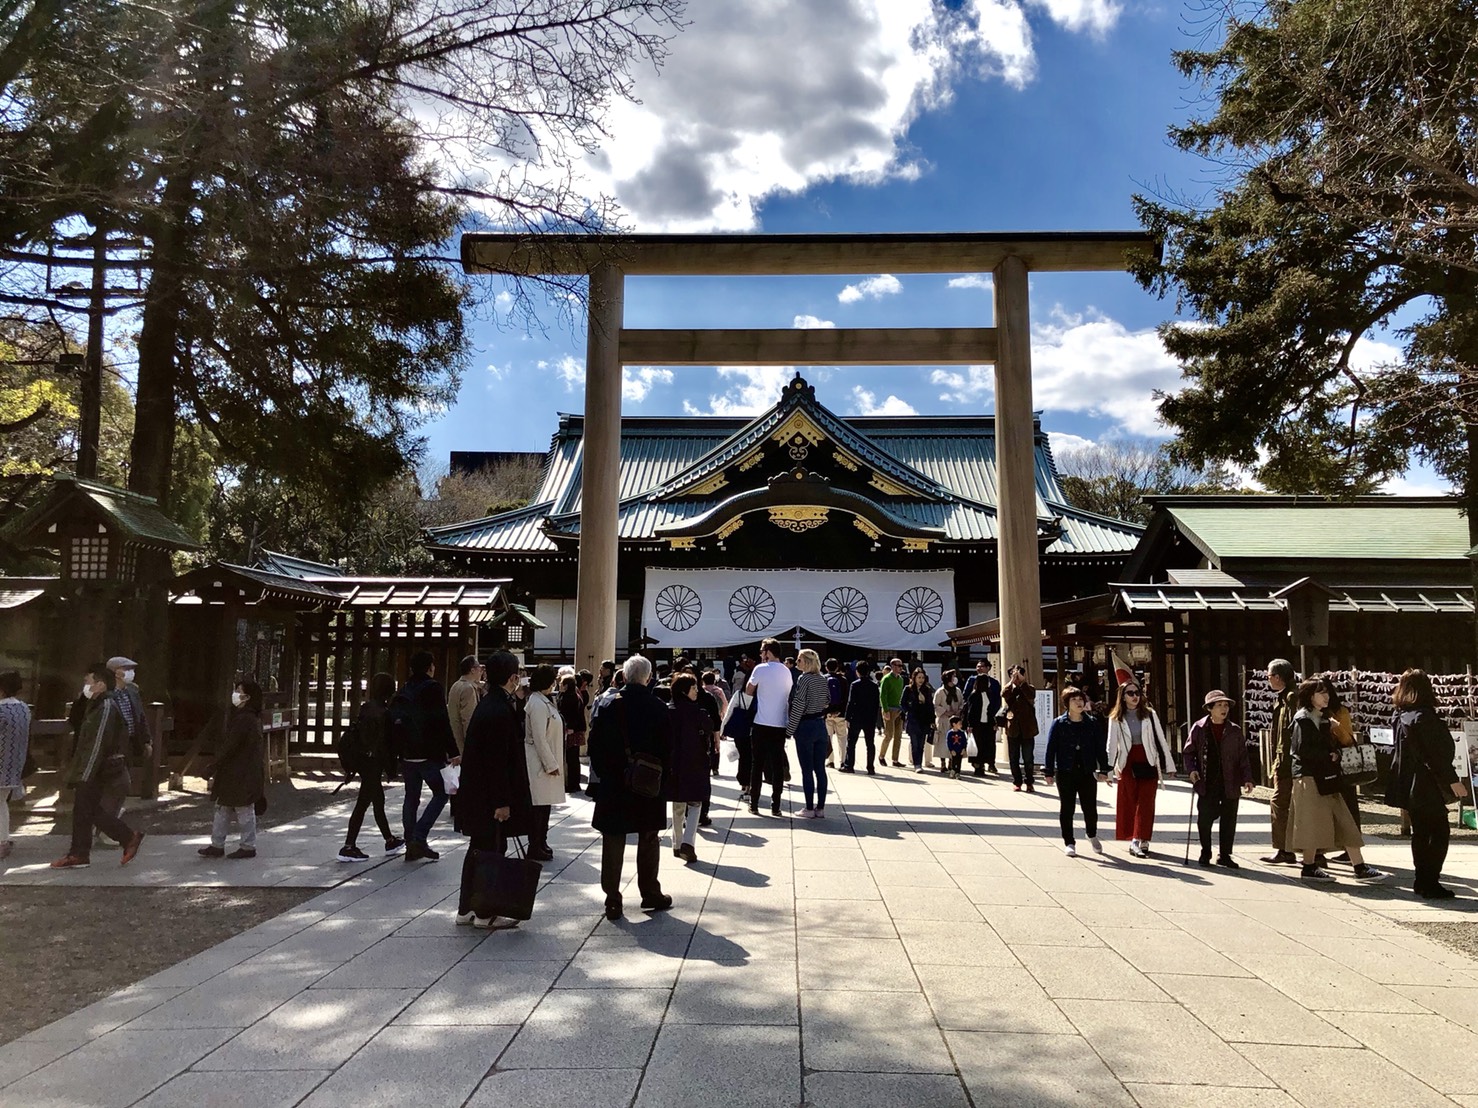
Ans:
MULTIPOLYGON (((1478 963, 1395 923, 1478 901, 1307 888, 1252 861, 1256 804, 1243 870, 1187 869, 1184 784, 1135 861, 1066 858, 1046 790, 832 780, 819 821, 735 814, 720 783, 699 864, 664 845, 674 910, 630 889, 619 923, 584 799, 535 917, 491 935, 452 923, 451 836, 344 879, 325 829, 294 864, 343 883, 0 1047, 0 1104, 1478 1107, 1478 963)), ((1406 844, 1369 854, 1410 879, 1406 844)))

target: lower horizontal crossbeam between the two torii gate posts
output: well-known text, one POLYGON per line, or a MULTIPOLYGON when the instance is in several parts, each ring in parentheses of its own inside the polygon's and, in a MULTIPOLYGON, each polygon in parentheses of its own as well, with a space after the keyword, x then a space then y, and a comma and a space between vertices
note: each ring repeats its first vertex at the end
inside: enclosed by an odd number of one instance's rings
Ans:
POLYGON ((621 332, 622 365, 983 365, 990 326, 621 332))

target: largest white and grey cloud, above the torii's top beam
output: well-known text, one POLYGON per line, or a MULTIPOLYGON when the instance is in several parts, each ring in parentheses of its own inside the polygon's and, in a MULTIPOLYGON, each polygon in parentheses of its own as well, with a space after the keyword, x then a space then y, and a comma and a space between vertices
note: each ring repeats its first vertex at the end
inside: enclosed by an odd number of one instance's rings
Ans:
POLYGON ((1032 18, 1106 33, 1113 0, 705 0, 584 163, 640 230, 749 230, 766 198, 916 177, 907 131, 961 80, 1021 87, 1032 18))

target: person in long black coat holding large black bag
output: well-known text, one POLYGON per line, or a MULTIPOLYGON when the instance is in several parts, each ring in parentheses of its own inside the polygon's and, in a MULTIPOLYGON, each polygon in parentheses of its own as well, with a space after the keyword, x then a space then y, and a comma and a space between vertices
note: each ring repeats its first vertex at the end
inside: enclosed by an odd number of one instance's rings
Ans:
POLYGON ((529 833, 534 805, 523 756, 523 725, 513 702, 519 660, 500 650, 488 659, 486 669, 488 694, 477 702, 467 722, 457 793, 461 830, 471 836, 463 860, 457 922, 501 931, 517 926, 519 920, 500 914, 474 914, 479 883, 486 883, 489 867, 503 858, 508 838, 529 833))

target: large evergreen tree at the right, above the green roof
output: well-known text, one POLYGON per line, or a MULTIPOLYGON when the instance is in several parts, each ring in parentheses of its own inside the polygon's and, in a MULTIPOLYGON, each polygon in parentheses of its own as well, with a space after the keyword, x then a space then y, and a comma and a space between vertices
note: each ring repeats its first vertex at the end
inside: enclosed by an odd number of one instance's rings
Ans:
POLYGON ((1174 452, 1349 495, 1429 462, 1478 544, 1478 3, 1276 0, 1175 62, 1212 109, 1171 131, 1224 180, 1137 196, 1140 281, 1187 380, 1174 452), (1398 358, 1363 356, 1389 334, 1398 358))

